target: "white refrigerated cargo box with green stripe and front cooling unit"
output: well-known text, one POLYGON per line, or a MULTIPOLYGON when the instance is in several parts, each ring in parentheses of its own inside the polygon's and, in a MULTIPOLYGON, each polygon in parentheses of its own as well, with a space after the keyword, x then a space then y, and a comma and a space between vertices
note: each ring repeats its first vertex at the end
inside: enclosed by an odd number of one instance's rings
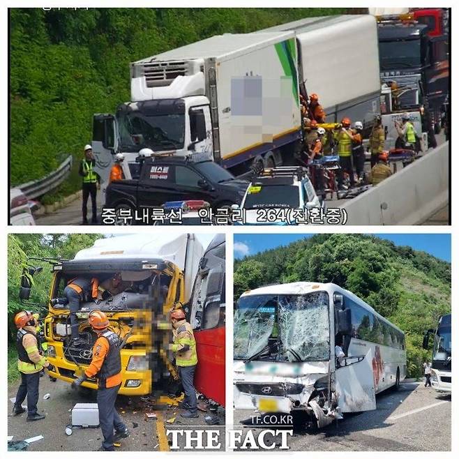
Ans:
POLYGON ((131 99, 206 96, 216 160, 231 167, 299 138, 294 33, 226 33, 131 64, 131 99))

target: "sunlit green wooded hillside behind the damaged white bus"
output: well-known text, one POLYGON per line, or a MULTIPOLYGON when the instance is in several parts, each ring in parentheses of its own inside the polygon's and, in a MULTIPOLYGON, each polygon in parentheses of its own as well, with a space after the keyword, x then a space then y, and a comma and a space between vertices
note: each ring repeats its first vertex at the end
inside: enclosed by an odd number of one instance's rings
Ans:
POLYGON ((333 282, 406 333, 410 377, 420 376, 423 333, 451 312, 451 264, 363 234, 317 234, 234 262, 234 296, 272 283, 333 282))

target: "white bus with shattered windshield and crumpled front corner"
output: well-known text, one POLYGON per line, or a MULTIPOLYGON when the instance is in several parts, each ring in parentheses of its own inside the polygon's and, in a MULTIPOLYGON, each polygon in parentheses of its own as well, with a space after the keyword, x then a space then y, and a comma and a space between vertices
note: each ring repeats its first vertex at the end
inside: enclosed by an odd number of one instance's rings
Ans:
POLYGON ((321 428, 375 409, 375 394, 398 386, 406 370, 404 333, 338 285, 270 285, 236 305, 235 409, 303 410, 321 428))

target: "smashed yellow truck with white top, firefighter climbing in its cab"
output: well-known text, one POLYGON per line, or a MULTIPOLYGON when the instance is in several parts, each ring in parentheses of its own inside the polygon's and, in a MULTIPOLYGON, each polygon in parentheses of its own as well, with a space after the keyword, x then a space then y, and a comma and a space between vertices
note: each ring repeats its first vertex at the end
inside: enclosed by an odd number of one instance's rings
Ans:
MULTIPOLYGON (((107 314, 110 329, 121 340, 119 393, 151 393, 156 382, 174 372, 167 350, 167 313, 188 301, 202 253, 194 235, 136 234, 99 239, 91 248, 80 250, 74 259, 55 263, 50 299, 62 297, 69 280, 77 276, 96 277, 100 284, 109 286, 116 276, 121 278, 121 287, 118 285, 115 293, 109 288, 98 301, 80 303, 77 318, 84 344, 78 347, 70 339, 68 306, 48 304, 44 331, 47 357, 54 366, 50 376, 71 383, 87 368, 97 338, 88 317, 91 310, 98 309, 107 314)), ((97 389, 95 379, 87 379, 82 385, 97 389)))

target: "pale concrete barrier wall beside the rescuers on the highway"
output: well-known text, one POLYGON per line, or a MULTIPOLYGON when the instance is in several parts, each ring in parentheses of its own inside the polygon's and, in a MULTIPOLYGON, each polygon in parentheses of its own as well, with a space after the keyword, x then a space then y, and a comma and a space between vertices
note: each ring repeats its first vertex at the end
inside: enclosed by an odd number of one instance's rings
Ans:
POLYGON ((419 225, 449 201, 449 142, 346 202, 347 225, 419 225))

